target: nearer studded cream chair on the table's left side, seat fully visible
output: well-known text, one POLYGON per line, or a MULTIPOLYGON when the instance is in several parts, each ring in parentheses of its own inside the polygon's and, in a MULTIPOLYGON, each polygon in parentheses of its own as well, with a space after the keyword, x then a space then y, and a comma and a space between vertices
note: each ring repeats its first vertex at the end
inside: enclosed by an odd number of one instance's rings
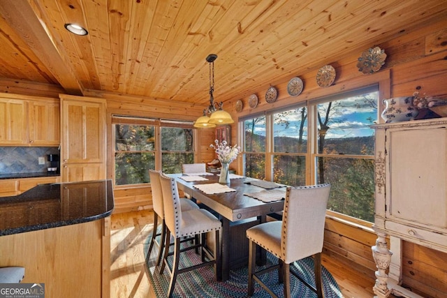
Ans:
MULTIPOLYGON (((163 191, 163 207, 165 211, 165 222, 166 222, 166 244, 165 253, 163 256, 163 263, 161 264, 160 274, 163 274, 163 269, 166 268, 170 274, 170 284, 167 297, 172 297, 175 282, 177 280, 177 275, 182 274, 186 271, 191 271, 193 269, 198 269, 200 267, 205 267, 208 265, 214 265, 214 278, 219 281, 221 280, 221 255, 220 255, 220 237, 219 231, 221 230, 221 222, 213 216, 209 211, 204 209, 193 209, 189 211, 182 211, 179 208, 179 195, 177 189, 177 182, 174 178, 166 177, 163 174, 160 176, 161 189, 163 191), (205 239, 208 232, 214 231, 214 245, 213 253, 207 248, 205 239), (169 253, 167 249, 169 246, 169 239, 171 234, 174 238, 174 251, 169 253), (195 245, 182 246, 182 237, 192 237, 200 235, 200 243, 195 245), (202 262, 197 265, 192 265, 189 267, 179 268, 180 253, 185 253, 193 248, 200 248, 202 253, 202 262), (173 255, 172 267, 170 267, 168 262, 168 257, 173 255), (207 260, 205 259, 207 256, 207 260)), ((193 286, 193 285, 191 285, 193 286)))

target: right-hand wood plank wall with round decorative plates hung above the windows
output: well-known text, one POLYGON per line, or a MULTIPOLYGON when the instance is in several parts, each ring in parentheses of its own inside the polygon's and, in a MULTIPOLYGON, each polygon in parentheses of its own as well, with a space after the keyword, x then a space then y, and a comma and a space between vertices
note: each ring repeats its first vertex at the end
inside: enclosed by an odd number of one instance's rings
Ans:
MULTIPOLYGON (((270 82, 278 89, 279 96, 275 103, 265 102, 265 91, 269 87, 266 85, 263 90, 252 91, 252 94, 257 94, 259 98, 259 104, 255 109, 249 108, 248 97, 243 97, 226 102, 226 107, 233 107, 227 111, 232 114, 233 119, 237 119, 376 83, 379 84, 381 98, 411 96, 418 90, 420 94, 447 99, 447 19, 411 32, 396 33, 393 40, 381 45, 370 45, 374 46, 381 47, 388 55, 386 64, 378 73, 373 75, 360 73, 356 64, 362 51, 351 52, 337 61, 328 61, 337 72, 335 83, 331 87, 318 87, 315 79, 318 69, 302 70, 291 74, 291 77, 299 76, 304 82, 300 96, 295 98, 288 96, 287 81, 270 82), (238 99, 242 99, 244 103, 244 108, 239 113, 234 109, 238 99)), ((383 106, 379 109, 383 110, 383 106)), ((237 142, 236 126, 233 126, 232 136, 233 143, 237 142)), ((371 253, 371 246, 375 245, 375 240, 376 234, 370 229, 346 225, 336 218, 329 217, 326 220, 325 253, 343 260, 347 265, 354 266, 369 276, 374 276, 376 270, 371 253)), ((447 254, 414 244, 404 245, 404 254, 406 261, 404 284, 424 297, 445 297, 447 254), (427 258, 427 255, 430 257, 427 258)))

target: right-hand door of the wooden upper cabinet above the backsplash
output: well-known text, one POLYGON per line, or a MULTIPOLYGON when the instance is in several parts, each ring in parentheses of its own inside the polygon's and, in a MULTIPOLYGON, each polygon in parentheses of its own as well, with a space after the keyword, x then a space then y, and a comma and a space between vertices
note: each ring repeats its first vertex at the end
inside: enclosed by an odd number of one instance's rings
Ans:
POLYGON ((60 144, 60 107, 54 101, 29 101, 29 143, 41 146, 60 144))

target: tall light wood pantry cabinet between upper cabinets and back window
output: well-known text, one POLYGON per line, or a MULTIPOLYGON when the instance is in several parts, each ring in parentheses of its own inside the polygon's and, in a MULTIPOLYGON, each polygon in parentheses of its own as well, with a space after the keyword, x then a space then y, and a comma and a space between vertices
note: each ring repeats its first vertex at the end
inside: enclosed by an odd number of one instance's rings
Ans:
POLYGON ((62 181, 105 179, 105 100, 60 98, 62 181))

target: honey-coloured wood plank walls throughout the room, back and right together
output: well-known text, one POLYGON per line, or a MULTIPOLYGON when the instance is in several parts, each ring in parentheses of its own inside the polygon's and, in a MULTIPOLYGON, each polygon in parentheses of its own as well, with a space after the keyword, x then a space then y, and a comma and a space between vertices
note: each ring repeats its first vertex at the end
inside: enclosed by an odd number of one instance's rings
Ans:
MULTIPOLYGON (((355 38, 355 37, 353 37, 355 38)), ((232 98, 225 103, 225 110, 232 114, 233 119, 244 117, 249 114, 286 107, 293 103, 320 98, 329 94, 337 94, 350 89, 365 87, 370 84, 379 84, 381 98, 390 96, 411 96, 416 89, 421 94, 438 98, 447 98, 447 19, 440 20, 428 27, 415 29, 411 32, 396 32, 395 38, 379 46, 388 55, 386 64, 378 73, 363 75, 356 67, 357 58, 362 51, 340 53, 337 61, 327 61, 337 71, 335 84, 331 87, 321 88, 316 84, 316 69, 303 69, 291 74, 291 77, 299 76, 304 82, 304 90, 300 96, 291 98, 288 96, 286 86, 288 81, 265 82, 265 88, 252 90, 249 94, 257 94, 259 98, 258 107, 251 109, 248 106, 248 96, 232 98), (274 85, 279 91, 278 100, 273 104, 265 102, 265 91, 274 85), (242 99, 244 108, 242 112, 235 111, 235 103, 242 99)), ((330 50, 330 49, 328 49, 330 50)), ((367 50, 367 48, 365 48, 367 50)), ((323 66, 323 65, 322 65, 323 66)), ((0 91, 27 95, 54 96, 60 91, 54 86, 41 86, 29 82, 15 82, 0 80, 0 91)), ((175 117, 178 119, 196 119, 203 107, 196 105, 184 105, 170 103, 164 100, 135 98, 131 96, 118 96, 115 94, 103 94, 98 91, 90 91, 88 96, 106 98, 108 101, 108 117, 110 114, 119 112, 121 114, 133 114, 135 116, 175 117)), ((383 107, 380 107, 382 110, 383 107)), ((110 122, 109 122, 110 124, 110 122)), ((108 126, 109 129, 110 125, 108 126)), ((108 131, 108 142, 111 132, 108 131)), ((232 125, 232 143, 238 142, 237 124, 232 125)), ((214 140, 214 131, 198 131, 197 146, 200 149, 197 155, 198 162, 211 161, 214 151, 209 148, 214 140)), ((111 144, 108 144, 110 148, 111 144)), ((110 153, 109 153, 110 154, 110 153)), ((108 156, 108 161, 111 160, 108 156)), ((108 164, 110 168, 110 164, 108 164)), ((237 163, 237 171, 241 172, 242 163, 237 163)), ((111 173, 108 172, 108 177, 111 173)), ((115 191, 115 198, 122 210, 150 208, 152 206, 150 188, 128 188, 115 191)), ((346 263, 365 271, 365 274, 374 276, 376 267, 372 260, 371 246, 374 245, 376 235, 370 229, 360 229, 346 225, 335 218, 328 218, 325 230, 325 252, 342 258, 346 263)), ((446 268, 447 254, 438 251, 427 251, 427 248, 413 244, 404 245, 404 283, 411 286, 415 292, 423 293, 425 297, 442 297, 446 293, 446 268), (427 255, 430 255, 427 258, 427 255), (430 262, 436 260, 436 262, 430 262), (411 264, 409 264, 411 262, 411 264), (428 271, 434 272, 433 278, 425 278, 428 271), (444 274, 444 279, 439 275, 444 274), (441 288, 444 287, 444 288, 441 288), (441 289, 441 290, 439 290, 441 289), (441 291, 441 294, 439 294, 441 291)), ((373 285, 371 285, 373 286, 373 285)))

